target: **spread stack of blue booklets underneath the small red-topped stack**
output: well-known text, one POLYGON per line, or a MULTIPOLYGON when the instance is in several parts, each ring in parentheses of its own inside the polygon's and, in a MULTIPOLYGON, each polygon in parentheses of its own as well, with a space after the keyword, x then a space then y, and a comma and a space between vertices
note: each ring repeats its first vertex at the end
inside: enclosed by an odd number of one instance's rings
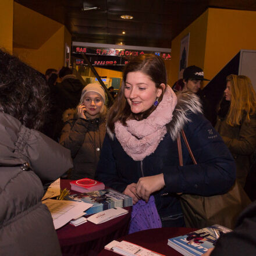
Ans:
POLYGON ((93 204, 93 206, 86 211, 85 215, 96 214, 97 212, 111 208, 123 208, 133 205, 131 197, 113 189, 95 190, 86 193, 68 195, 66 199, 93 204))

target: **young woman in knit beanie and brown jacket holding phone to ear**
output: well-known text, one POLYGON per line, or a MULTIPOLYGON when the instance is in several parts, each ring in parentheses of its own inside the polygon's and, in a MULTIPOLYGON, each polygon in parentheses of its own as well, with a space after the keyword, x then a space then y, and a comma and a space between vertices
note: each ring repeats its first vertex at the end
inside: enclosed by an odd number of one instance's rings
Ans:
POLYGON ((69 148, 74 168, 70 179, 94 179, 106 133, 105 92, 100 84, 84 87, 76 109, 63 113, 65 126, 59 143, 69 148))

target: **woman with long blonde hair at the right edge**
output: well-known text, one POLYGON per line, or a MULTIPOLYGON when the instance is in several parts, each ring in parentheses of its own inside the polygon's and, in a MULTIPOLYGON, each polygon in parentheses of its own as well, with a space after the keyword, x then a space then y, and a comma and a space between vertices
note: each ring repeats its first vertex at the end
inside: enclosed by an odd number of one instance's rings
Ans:
POLYGON ((226 81, 227 107, 219 110, 215 129, 232 153, 237 181, 244 187, 256 148, 256 94, 247 76, 230 74, 226 81))

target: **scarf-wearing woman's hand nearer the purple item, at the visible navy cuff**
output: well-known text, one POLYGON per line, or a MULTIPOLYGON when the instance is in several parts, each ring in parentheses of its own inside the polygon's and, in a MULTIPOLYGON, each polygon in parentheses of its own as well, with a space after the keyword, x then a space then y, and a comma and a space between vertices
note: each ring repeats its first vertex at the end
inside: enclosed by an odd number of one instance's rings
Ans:
POLYGON ((148 202, 150 195, 155 191, 161 190, 165 186, 163 173, 154 176, 141 177, 136 185, 137 197, 141 197, 148 202))

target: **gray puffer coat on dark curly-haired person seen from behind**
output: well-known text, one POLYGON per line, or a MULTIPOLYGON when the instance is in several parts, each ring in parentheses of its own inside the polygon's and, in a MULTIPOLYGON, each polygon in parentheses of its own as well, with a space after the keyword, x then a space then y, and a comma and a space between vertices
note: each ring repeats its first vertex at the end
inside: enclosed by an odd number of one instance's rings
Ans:
POLYGON ((0 113, 0 255, 61 255, 44 187, 72 167, 70 151, 0 113))

